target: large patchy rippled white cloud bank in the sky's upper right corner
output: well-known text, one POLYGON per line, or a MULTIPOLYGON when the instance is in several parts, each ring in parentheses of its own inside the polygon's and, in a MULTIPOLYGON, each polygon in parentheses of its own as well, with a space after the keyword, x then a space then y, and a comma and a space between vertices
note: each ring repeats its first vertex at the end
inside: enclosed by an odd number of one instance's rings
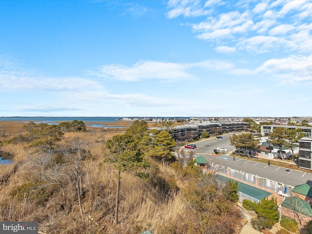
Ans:
MULTIPOLYGON (((190 17, 190 12, 202 13, 197 16, 207 15, 206 20, 198 18, 202 21, 185 25, 192 25, 196 37, 212 42, 216 51, 223 52, 222 49, 232 43, 232 48, 235 47, 236 51, 245 50, 252 54, 283 48, 287 51, 306 52, 305 45, 311 44, 311 28, 303 29, 306 22, 302 21, 307 18, 312 20, 311 1, 244 1, 233 11, 229 1, 208 1, 203 5, 201 1, 172 0, 168 3, 168 8, 170 19, 190 17), (210 15, 209 10, 223 13, 210 15), (297 34, 304 34, 301 41, 296 38, 297 34)), ((195 17, 196 14, 192 16, 195 17)), ((308 51, 311 52, 312 47, 310 48, 308 51)))

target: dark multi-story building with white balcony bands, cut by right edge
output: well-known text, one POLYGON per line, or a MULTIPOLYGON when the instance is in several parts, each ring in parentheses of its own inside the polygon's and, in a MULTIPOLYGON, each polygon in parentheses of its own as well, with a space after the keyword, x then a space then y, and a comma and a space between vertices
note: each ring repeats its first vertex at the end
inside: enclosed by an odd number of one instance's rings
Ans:
POLYGON ((303 137, 299 139, 299 168, 312 170, 312 138, 303 137))

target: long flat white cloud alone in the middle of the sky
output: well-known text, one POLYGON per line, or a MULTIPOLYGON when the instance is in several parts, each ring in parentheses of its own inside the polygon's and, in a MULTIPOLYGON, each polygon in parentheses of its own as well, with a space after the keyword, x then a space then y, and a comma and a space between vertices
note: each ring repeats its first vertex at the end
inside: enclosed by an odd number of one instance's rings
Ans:
POLYGON ((105 65, 98 72, 89 72, 103 78, 122 81, 161 79, 179 81, 194 78, 187 71, 187 66, 172 62, 142 61, 128 67, 120 64, 105 65))

